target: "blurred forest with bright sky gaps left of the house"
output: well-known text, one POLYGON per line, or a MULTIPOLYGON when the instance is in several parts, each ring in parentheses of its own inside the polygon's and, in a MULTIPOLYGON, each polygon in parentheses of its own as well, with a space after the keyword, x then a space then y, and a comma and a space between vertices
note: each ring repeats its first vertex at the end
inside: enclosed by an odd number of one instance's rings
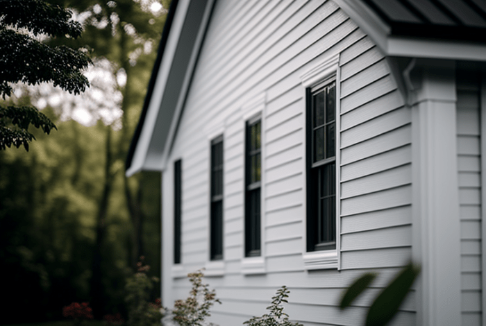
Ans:
POLYGON ((58 130, 32 130, 28 152, 0 151, 1 324, 57 320, 71 302, 90 302, 95 318, 125 314, 139 257, 160 275, 160 174, 126 178, 124 162, 170 1, 49 2, 83 24, 63 42, 89 49, 91 87, 17 85, 7 100, 42 108, 58 130))

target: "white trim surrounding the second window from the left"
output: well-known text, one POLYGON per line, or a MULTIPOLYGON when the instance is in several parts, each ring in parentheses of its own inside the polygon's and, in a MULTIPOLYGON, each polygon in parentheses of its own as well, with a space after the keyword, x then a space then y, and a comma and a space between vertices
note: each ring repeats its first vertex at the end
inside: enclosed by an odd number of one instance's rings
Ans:
MULTIPOLYGON (((225 128, 224 126, 219 123, 217 126, 214 128, 211 128, 210 130, 206 130, 206 139, 207 139, 207 144, 208 144, 208 198, 207 198, 207 203, 208 203, 208 254, 206 255, 206 264, 204 264, 204 275, 205 276, 223 276, 224 271, 226 269, 226 263, 224 261, 225 255, 224 255, 224 205, 226 201, 224 200, 225 198, 225 191, 226 187, 224 187, 223 183, 223 259, 221 260, 211 260, 211 224, 210 224, 210 216, 211 216, 211 142, 213 139, 219 136, 223 136, 223 162, 224 162, 224 131, 225 128)), ((223 165, 224 166, 224 165, 223 165)), ((224 182, 224 167, 223 167, 223 182, 224 182)))

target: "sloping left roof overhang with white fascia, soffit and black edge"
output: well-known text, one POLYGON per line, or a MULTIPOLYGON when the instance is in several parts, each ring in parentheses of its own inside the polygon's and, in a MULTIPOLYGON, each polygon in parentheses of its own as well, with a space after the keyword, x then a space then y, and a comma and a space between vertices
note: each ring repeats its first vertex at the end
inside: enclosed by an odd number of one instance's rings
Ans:
POLYGON ((128 153, 127 176, 164 169, 214 2, 174 1, 165 26, 168 35, 162 35, 159 60, 128 153))

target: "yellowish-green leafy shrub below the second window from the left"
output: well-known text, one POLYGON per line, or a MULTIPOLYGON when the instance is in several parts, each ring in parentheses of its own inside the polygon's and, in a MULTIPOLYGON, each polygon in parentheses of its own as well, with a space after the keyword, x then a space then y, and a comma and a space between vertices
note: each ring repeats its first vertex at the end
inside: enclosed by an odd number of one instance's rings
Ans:
MULTIPOLYGON (((211 316, 210 308, 215 302, 221 302, 216 298, 214 290, 208 288, 208 284, 203 284, 202 270, 187 274, 192 284, 190 295, 186 300, 176 300, 173 319, 181 326, 202 326, 206 317, 211 316)), ((212 325, 210 323, 209 325, 212 325)))

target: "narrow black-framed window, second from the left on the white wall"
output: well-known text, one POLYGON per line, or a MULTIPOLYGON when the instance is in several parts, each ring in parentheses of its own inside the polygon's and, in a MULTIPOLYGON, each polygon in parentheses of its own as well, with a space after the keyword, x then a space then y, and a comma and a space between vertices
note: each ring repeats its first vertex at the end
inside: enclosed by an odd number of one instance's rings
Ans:
POLYGON ((210 260, 224 259, 224 137, 219 135, 210 143, 210 260), (219 148, 217 148, 217 146, 219 148), (219 151, 219 153, 217 153, 219 151), (217 165, 216 155, 220 164, 217 165), (219 182, 216 182, 217 172, 221 172, 219 182), (219 186, 217 185, 219 183, 219 186), (219 187, 220 189, 216 189, 219 187), (217 194, 215 192, 217 191, 217 194), (219 205, 219 211, 215 209, 219 205), (217 213, 221 216, 217 216, 217 213), (218 225, 219 224, 219 225, 218 225), (218 230, 217 230, 218 229, 218 230))

